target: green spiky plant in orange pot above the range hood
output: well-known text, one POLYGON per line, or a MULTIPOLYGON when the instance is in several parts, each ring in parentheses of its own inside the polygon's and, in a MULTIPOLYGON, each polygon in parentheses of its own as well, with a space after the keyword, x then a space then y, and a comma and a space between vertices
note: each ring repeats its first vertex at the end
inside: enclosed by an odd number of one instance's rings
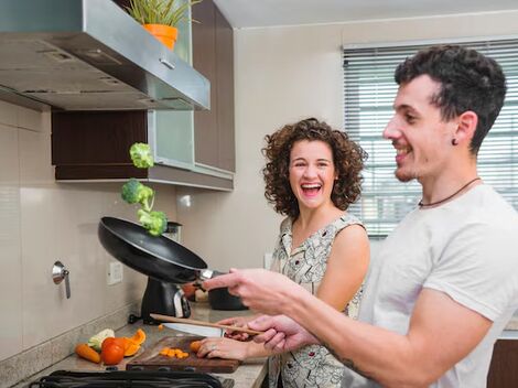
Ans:
POLYGON ((190 7, 202 0, 130 0, 128 12, 134 20, 173 50, 179 34, 177 24, 188 21, 190 7))

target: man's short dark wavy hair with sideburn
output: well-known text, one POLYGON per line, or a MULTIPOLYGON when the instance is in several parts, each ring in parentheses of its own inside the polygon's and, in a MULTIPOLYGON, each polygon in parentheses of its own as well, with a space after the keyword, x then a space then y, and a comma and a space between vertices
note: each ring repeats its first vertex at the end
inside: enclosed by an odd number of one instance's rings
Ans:
POLYGON ((475 50, 438 45, 407 58, 396 69, 395 78, 401 85, 424 74, 441 84, 432 104, 441 109, 443 120, 451 120, 467 110, 478 116, 470 144, 471 152, 477 154, 504 105, 506 77, 501 67, 475 50))

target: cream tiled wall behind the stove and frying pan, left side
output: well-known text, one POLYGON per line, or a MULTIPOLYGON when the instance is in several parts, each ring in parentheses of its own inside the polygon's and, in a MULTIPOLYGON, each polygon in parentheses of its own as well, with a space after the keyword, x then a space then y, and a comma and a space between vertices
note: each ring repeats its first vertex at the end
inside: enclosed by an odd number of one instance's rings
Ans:
MULTIPOLYGON (((0 362, 138 302, 145 277, 123 268, 107 285, 112 259, 100 246, 101 216, 134 219, 122 183, 56 183, 51 116, 0 101, 0 362), (69 270, 72 298, 51 278, 69 270)), ((175 219, 175 190, 160 185, 155 208, 175 219)))

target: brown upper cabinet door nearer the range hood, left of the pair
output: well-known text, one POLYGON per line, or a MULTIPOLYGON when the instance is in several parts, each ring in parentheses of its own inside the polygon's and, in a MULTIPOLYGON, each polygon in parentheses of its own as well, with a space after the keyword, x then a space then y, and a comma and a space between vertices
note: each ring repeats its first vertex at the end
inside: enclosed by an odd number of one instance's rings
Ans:
POLYGON ((211 110, 194 112, 194 143, 196 163, 218 165, 218 130, 216 96, 216 7, 205 0, 192 9, 193 19, 193 67, 211 82, 211 110))

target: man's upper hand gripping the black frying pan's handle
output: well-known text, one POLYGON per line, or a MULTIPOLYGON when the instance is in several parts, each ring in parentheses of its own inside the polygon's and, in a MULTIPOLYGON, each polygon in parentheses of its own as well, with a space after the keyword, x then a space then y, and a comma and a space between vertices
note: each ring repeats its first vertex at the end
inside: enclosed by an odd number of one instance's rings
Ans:
POLYGON ((223 287, 228 287, 228 292, 240 297, 245 305, 270 315, 284 313, 295 297, 307 293, 283 274, 265 269, 230 269, 230 273, 203 282, 206 290, 223 287))

